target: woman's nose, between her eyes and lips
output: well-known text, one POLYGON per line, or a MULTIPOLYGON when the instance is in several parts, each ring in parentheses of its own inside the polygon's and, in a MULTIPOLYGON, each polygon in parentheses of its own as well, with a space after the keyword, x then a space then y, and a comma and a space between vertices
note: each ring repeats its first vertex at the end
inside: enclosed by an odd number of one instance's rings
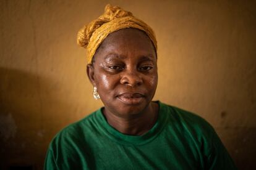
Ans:
POLYGON ((124 71, 120 80, 121 84, 128 86, 140 86, 143 81, 140 74, 137 71, 124 71))

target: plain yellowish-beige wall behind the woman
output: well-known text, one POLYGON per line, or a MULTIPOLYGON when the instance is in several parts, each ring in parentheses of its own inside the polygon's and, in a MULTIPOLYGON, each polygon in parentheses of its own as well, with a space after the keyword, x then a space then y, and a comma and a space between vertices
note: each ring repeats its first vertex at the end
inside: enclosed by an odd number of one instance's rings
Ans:
POLYGON ((239 168, 255 168, 255 1, 0 1, 1 167, 43 166, 54 134, 99 108, 77 31, 107 3, 158 39, 155 100, 207 119, 239 168))

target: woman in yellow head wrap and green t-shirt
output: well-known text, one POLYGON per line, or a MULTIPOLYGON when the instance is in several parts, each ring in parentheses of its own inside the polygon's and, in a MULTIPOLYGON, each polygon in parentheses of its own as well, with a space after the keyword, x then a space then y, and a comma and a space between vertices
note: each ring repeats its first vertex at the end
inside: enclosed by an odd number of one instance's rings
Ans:
POLYGON ((204 119, 151 101, 157 45, 146 23, 108 5, 79 31, 78 43, 104 107, 54 137, 45 169, 236 169, 204 119))

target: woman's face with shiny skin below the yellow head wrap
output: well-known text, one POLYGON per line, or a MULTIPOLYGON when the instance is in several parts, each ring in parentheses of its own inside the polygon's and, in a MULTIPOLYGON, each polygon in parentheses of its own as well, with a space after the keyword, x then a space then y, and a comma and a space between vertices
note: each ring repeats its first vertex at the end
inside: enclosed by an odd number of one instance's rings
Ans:
POLYGON ((106 111, 129 117, 142 113, 158 83, 155 48, 143 31, 127 28, 109 34, 88 65, 106 111))

